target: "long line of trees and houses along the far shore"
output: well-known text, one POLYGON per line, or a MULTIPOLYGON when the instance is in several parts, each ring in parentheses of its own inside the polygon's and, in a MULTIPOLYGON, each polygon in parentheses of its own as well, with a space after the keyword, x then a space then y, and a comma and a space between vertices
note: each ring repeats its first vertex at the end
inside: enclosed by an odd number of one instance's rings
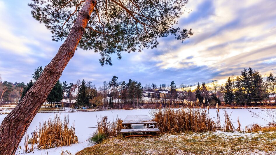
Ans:
MULTIPOLYGON (((0 82, 0 103, 18 103, 26 92, 33 86, 43 68, 39 66, 32 74, 32 80, 24 82, 0 82)), ((145 84, 129 79, 119 82, 113 76, 109 82, 104 81, 102 87, 96 87, 91 81, 78 80, 76 83, 66 81, 56 82, 47 97, 50 107, 52 103, 73 102, 75 107, 104 107, 104 108, 137 108, 144 103, 161 104, 162 106, 186 105, 193 101, 198 105, 215 105, 222 103, 234 106, 264 105, 276 103, 276 77, 270 73, 262 77, 251 67, 243 69, 240 76, 228 77, 225 84, 219 85, 217 80, 206 84, 198 82, 195 89, 192 85, 180 84, 177 88, 174 81, 171 84, 145 84), (143 94, 144 92, 144 94, 143 94), (145 94, 146 93, 146 94, 145 94), (144 98, 143 98, 144 96, 144 98), (270 96, 270 97, 269 97, 270 96)))

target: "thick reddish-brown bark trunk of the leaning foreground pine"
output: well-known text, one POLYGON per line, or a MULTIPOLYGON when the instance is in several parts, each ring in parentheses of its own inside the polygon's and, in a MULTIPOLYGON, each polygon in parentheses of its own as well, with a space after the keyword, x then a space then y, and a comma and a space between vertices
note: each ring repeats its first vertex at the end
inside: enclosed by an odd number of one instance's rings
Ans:
POLYGON ((78 13, 69 35, 60 46, 53 60, 45 68, 34 86, 20 103, 3 120, 0 126, 0 154, 13 155, 34 116, 46 101, 48 94, 60 78, 62 71, 74 56, 76 47, 83 36, 85 27, 94 10, 96 0, 86 0, 78 13))

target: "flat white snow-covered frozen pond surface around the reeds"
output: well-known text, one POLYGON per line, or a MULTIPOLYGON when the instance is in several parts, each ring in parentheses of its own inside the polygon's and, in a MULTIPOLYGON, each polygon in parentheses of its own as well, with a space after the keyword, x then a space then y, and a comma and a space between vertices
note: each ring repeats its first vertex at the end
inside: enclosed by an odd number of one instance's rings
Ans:
MULTIPOLYGON (((260 118, 252 117, 251 113, 248 109, 220 109, 220 117, 223 121, 224 119, 224 112, 223 110, 226 110, 228 114, 231 114, 231 119, 235 127, 237 127, 237 117, 239 116, 240 123, 242 125, 242 128, 244 129, 245 126, 250 125, 252 123, 258 123, 261 125, 266 125, 267 122, 260 118)), ((251 109, 255 113, 265 113, 261 111, 260 109, 251 109)), ((60 113, 61 118, 63 118, 64 115, 67 115, 69 117, 70 123, 75 123, 76 128, 76 135, 78 136, 79 143, 73 144, 69 147, 56 147, 48 149, 48 154, 55 155, 62 152, 62 150, 66 151, 68 150, 72 154, 75 154, 76 152, 84 149, 85 147, 89 147, 91 145, 88 144, 88 137, 92 134, 93 131, 96 130, 96 128, 88 128, 88 127, 96 127, 97 119, 103 116, 107 116, 109 120, 113 121, 116 120, 116 117, 120 117, 124 119, 127 115, 149 115, 151 109, 142 109, 142 110, 105 110, 105 111, 93 111, 93 112, 62 112, 60 113)), ((216 109, 209 109, 210 117, 216 117, 216 109)), ((34 120, 32 121, 31 125, 29 126, 27 130, 27 134, 31 136, 31 132, 34 132, 36 130, 36 126, 39 126, 39 122, 42 122, 48 117, 54 117, 55 113, 48 112, 48 113, 38 113, 34 117, 34 120)), ((0 122, 3 121, 3 119, 7 115, 0 115, 0 122)), ((223 122, 221 122, 223 124, 223 122)), ((20 145, 23 148, 24 145, 24 139, 20 142, 20 145)), ((20 150, 20 154, 22 154, 23 150, 20 150)), ((38 150, 34 149, 34 153, 29 153, 34 155, 45 155, 47 154, 46 150, 38 150)))

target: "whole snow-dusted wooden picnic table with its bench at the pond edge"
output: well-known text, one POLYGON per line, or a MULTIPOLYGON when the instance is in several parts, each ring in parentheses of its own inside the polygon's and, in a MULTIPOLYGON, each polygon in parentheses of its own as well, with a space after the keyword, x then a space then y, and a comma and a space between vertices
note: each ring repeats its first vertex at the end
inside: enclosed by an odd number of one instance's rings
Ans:
POLYGON ((122 129, 120 133, 147 133, 147 132, 158 132, 156 128, 157 122, 154 121, 148 115, 127 115, 122 125, 128 126, 128 129, 122 129), (143 124, 144 128, 131 128, 131 124, 143 124))

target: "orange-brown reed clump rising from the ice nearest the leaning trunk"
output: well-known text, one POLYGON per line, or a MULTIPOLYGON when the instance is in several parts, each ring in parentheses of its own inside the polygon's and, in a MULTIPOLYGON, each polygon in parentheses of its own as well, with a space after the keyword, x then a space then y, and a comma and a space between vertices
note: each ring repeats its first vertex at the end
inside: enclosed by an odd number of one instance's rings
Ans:
POLYGON ((49 117, 43 124, 40 123, 37 133, 39 136, 39 149, 69 146, 78 143, 74 124, 69 127, 69 118, 64 116, 62 121, 59 114, 55 114, 53 120, 49 117))

